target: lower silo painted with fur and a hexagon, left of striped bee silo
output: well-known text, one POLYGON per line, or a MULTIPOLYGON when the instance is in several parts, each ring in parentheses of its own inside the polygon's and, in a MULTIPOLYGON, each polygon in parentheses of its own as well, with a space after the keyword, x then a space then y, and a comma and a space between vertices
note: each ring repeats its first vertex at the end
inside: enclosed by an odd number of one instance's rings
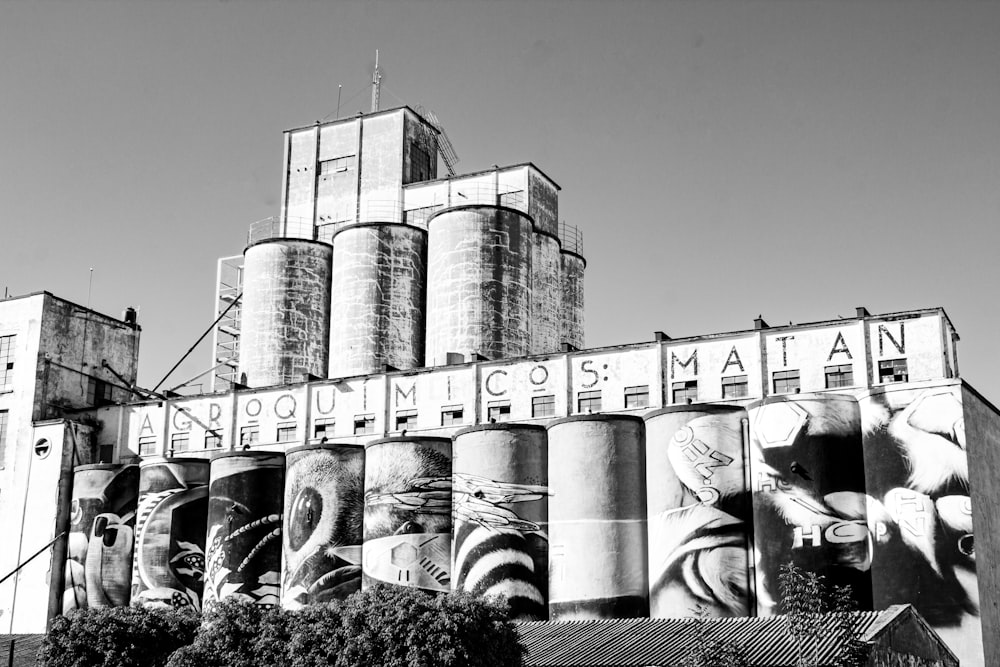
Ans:
POLYGON ((451 439, 365 445, 362 586, 451 589, 451 439))

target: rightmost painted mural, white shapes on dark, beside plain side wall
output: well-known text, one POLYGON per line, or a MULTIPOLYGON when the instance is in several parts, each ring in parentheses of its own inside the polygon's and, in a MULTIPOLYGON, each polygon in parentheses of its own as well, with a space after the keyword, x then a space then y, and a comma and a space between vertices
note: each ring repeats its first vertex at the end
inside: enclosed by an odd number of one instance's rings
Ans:
POLYGON ((875 605, 912 604, 962 664, 982 664, 959 387, 861 399, 875 605))

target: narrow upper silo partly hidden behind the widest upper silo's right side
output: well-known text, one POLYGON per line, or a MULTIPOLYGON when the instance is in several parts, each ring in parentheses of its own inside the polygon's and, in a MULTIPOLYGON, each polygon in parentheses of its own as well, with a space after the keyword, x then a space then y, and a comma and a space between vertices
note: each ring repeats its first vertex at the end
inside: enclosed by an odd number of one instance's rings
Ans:
POLYGON ((531 235, 531 354, 549 354, 562 343, 562 258, 559 239, 531 235))

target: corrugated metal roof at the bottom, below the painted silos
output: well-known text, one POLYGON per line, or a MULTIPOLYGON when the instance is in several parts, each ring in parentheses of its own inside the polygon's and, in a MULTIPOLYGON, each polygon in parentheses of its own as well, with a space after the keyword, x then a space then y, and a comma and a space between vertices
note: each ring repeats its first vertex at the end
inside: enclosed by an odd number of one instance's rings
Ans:
MULTIPOLYGON (((884 630, 905 606, 851 614, 854 632, 865 641, 884 630)), ((827 615, 825 629, 835 627, 827 615)), ((607 621, 535 622, 518 626, 531 667, 669 667, 687 656, 697 641, 698 619, 635 618, 607 621)), ((783 616, 706 619, 712 639, 743 646, 755 667, 795 664, 797 647, 789 640, 783 616)), ((832 664, 840 647, 835 633, 823 632, 810 652, 820 664, 832 664), (823 635, 827 635, 825 638, 823 635)))

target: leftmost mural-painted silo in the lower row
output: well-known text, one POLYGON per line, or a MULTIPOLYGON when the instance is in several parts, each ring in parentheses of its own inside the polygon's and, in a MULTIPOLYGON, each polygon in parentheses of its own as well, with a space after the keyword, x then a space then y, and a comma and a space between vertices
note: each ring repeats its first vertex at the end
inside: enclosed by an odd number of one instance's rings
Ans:
POLYGON ((64 614, 128 605, 138 501, 137 465, 100 463, 73 470, 64 614))

